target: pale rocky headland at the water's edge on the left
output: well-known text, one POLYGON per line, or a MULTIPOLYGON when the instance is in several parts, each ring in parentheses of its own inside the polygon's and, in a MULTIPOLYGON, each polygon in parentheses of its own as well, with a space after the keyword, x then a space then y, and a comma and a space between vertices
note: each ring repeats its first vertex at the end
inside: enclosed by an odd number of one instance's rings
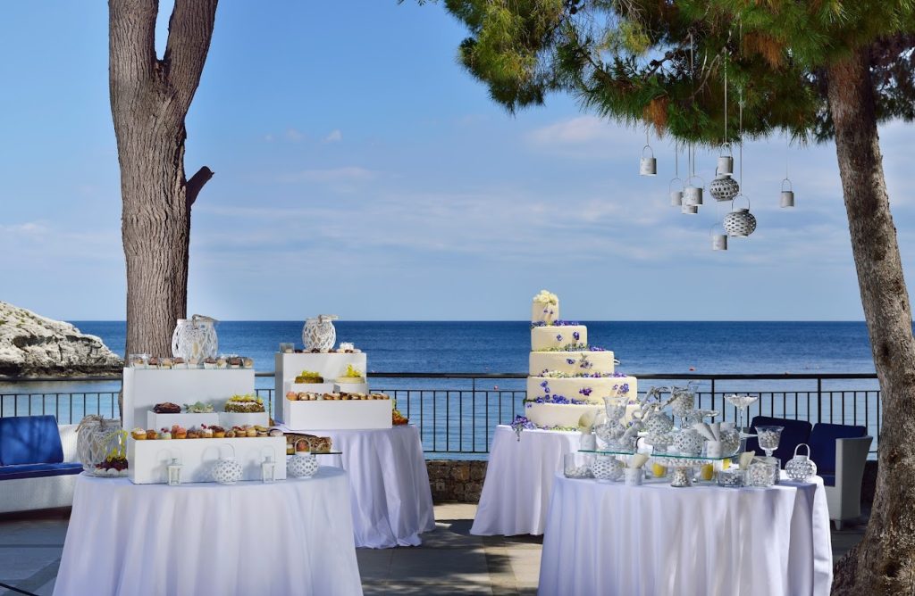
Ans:
POLYGON ((0 375, 106 375, 123 366, 99 337, 0 301, 0 375))

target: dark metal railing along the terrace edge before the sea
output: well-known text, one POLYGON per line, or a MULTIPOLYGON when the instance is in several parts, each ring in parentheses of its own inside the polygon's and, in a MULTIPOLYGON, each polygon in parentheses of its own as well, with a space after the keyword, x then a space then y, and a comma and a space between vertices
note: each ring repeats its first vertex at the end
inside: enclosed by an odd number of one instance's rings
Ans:
MULTIPOLYGON (((389 393, 397 408, 419 428, 426 453, 447 457, 471 457, 489 452, 492 431, 523 413, 526 395, 522 373, 370 373, 372 390, 389 393)), ((258 379, 273 378, 273 372, 257 373, 258 379)), ((745 412, 748 423, 753 416, 856 424, 867 427, 875 437, 872 452, 879 443, 882 408, 875 374, 646 374, 635 375, 643 389, 651 385, 699 383, 698 408, 720 410, 724 420, 737 420, 737 409, 725 395, 741 392, 758 394, 760 399, 745 412), (790 384, 791 387, 780 386, 790 384), (806 386, 801 388, 798 386, 806 386), (858 387, 848 387, 856 385, 858 387)), ((119 378, 16 378, 27 386, 36 381, 81 383, 117 382, 119 378)), ((0 389, 0 391, 4 391, 0 389)), ((256 388, 272 411, 274 389, 256 388)), ((0 416, 53 414, 59 423, 74 423, 87 414, 117 418, 118 391, 0 392, 0 416)), ((193 399, 193 396, 188 396, 193 399)))

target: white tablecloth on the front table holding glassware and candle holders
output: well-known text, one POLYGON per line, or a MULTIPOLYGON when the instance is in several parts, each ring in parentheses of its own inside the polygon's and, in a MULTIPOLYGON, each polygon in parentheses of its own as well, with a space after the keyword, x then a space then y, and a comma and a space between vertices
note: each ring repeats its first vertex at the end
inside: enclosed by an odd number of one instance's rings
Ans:
POLYGON ((554 483, 541 595, 826 596, 832 580, 820 478, 743 489, 554 483))

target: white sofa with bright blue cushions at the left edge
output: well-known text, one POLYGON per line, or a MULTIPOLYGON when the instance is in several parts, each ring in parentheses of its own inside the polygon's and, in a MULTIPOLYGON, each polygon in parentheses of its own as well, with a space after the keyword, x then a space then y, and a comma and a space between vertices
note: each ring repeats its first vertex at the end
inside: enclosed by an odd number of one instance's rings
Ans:
POLYGON ((71 506, 76 425, 53 416, 0 418, 0 513, 71 506))

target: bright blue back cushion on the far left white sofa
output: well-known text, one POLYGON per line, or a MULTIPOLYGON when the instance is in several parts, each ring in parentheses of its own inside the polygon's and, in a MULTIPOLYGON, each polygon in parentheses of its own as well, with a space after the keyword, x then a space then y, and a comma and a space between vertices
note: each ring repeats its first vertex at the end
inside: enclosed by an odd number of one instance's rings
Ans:
POLYGON ((0 418, 0 465, 60 462, 63 462, 63 446, 56 418, 0 418))

